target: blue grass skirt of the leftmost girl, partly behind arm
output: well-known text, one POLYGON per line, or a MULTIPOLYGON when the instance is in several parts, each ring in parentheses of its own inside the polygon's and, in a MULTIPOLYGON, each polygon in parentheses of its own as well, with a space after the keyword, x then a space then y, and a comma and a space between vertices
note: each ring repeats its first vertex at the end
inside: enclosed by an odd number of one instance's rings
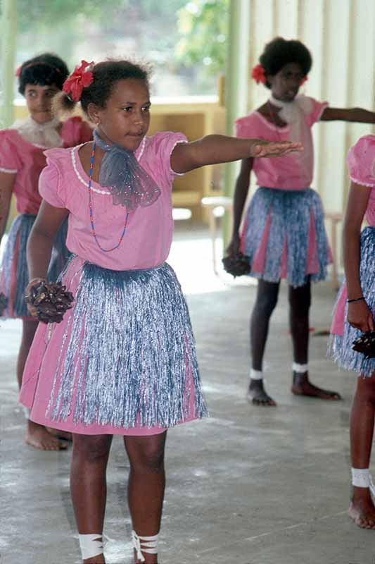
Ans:
MULTIPOLYGON (((25 304, 25 288, 30 279, 27 270, 26 245, 36 217, 31 214, 20 214, 13 221, 8 234, 0 265, 0 292, 8 298, 3 317, 30 318, 25 304)), ((64 221, 53 243, 48 271, 49 281, 57 280, 70 255, 65 246, 67 231, 68 219, 64 221)))

